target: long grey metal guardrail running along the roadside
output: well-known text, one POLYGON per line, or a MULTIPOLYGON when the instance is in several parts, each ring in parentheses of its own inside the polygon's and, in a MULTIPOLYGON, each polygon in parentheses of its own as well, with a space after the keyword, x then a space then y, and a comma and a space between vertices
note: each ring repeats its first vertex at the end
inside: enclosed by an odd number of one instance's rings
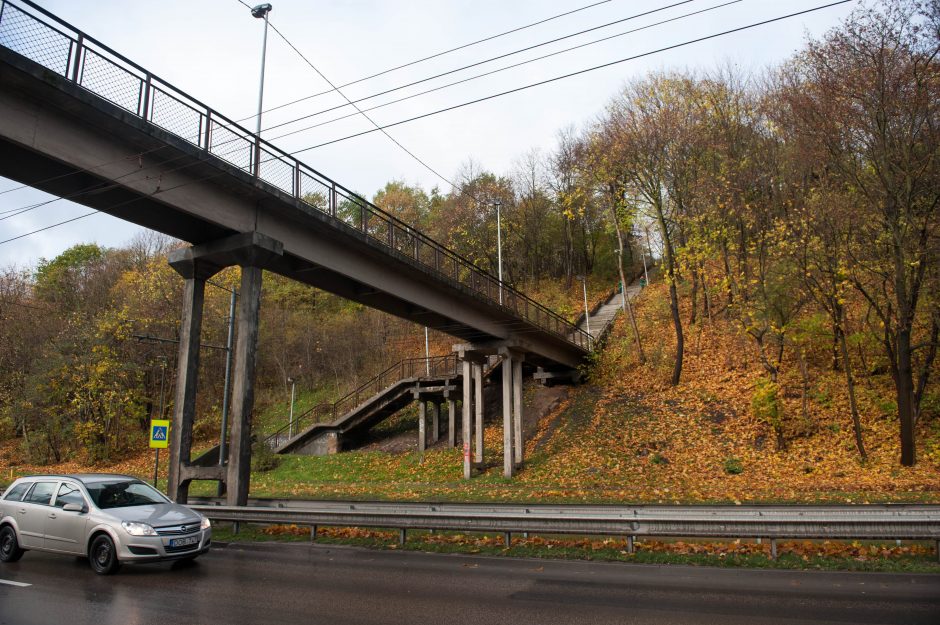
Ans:
MULTIPOLYGON (((934 540, 940 506, 591 506, 253 500, 190 507, 213 521, 690 538, 934 540)), ((940 545, 938 545, 940 547, 940 545)))

